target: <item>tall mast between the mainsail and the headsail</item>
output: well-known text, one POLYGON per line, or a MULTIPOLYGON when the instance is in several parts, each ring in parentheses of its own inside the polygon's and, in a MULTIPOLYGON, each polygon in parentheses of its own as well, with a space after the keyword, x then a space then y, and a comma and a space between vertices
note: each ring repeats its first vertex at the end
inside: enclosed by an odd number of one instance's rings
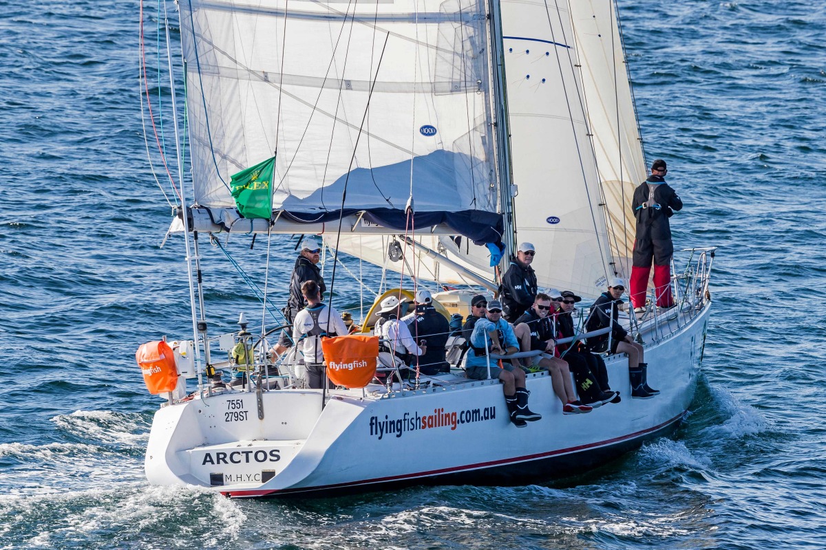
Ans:
POLYGON ((505 86, 505 58, 502 44, 502 20, 500 0, 488 0, 488 15, 490 16, 491 40, 491 72, 493 76, 493 94, 491 100, 494 113, 494 134, 496 136, 496 153, 494 163, 498 177, 499 204, 505 231, 502 234, 502 243, 505 245, 505 255, 502 256, 500 266, 506 270, 510 256, 516 253, 516 219, 513 197, 516 195, 516 186, 511 181, 510 170, 510 129, 508 127, 508 103, 505 86))

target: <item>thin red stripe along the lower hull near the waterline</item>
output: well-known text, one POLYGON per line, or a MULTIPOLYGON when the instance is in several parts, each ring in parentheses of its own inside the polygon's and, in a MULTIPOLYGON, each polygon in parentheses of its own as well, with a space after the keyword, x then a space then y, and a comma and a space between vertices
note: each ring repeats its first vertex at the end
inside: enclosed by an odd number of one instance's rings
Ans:
POLYGON ((547 453, 537 453, 537 454, 526 454, 525 456, 515 457, 515 458, 502 458, 501 460, 492 460, 491 462, 483 462, 477 464, 468 464, 468 466, 455 466, 453 468, 441 468, 439 470, 430 470, 427 472, 416 472, 416 473, 406 473, 399 476, 388 476, 388 477, 374 477, 373 479, 365 479, 358 482, 346 482, 346 483, 334 483, 331 485, 320 485, 318 487, 300 487, 297 489, 270 489, 270 490, 253 490, 253 491, 221 491, 221 494, 224 496, 235 496, 235 497, 251 497, 251 496, 273 496, 273 495, 286 495, 288 493, 298 493, 298 492, 307 492, 307 491, 322 491, 324 489, 339 489, 342 487, 357 487, 359 485, 371 485, 373 483, 382 483, 382 482, 396 482, 405 479, 415 479, 416 477, 430 477, 430 476, 437 476, 437 475, 444 475, 446 473, 452 472, 464 472, 470 470, 477 470, 481 468, 490 468, 491 466, 501 466, 504 464, 515 464, 520 462, 529 462, 531 460, 537 460, 539 458, 548 458, 556 455, 563 455, 563 454, 572 454, 577 453, 582 450, 586 449, 596 449, 599 447, 606 447, 608 445, 617 444, 622 441, 626 440, 633 440, 634 438, 640 437, 642 435, 650 434, 657 430, 662 430, 665 426, 672 424, 678 420, 680 420, 683 416, 685 416, 686 411, 682 411, 677 416, 674 416, 671 420, 667 420, 662 422, 662 424, 658 424, 653 426, 652 428, 647 428, 646 430, 639 430, 635 431, 633 434, 627 435, 619 435, 618 437, 612 438, 610 440, 604 441, 597 441, 596 443, 589 443, 584 445, 577 445, 576 447, 568 447, 567 449, 558 449, 555 451, 548 451, 547 453))

